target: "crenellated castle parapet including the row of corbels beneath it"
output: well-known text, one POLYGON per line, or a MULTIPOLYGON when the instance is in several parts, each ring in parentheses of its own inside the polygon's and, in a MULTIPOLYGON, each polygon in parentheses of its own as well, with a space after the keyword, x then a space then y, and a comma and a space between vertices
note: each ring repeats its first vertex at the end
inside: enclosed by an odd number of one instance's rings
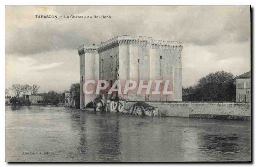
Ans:
POLYGON ((152 37, 145 36, 131 36, 122 35, 101 42, 99 45, 82 45, 78 48, 78 54, 84 53, 101 53, 114 47, 122 45, 139 45, 148 46, 152 49, 169 49, 169 50, 182 50, 182 42, 167 41, 167 40, 153 40, 152 37))

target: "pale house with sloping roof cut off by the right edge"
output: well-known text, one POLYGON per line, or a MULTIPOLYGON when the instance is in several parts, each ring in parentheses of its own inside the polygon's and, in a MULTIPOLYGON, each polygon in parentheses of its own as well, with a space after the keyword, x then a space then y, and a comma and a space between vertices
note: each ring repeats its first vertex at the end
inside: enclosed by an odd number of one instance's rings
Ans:
POLYGON ((236 76, 236 101, 251 102, 251 71, 236 76))

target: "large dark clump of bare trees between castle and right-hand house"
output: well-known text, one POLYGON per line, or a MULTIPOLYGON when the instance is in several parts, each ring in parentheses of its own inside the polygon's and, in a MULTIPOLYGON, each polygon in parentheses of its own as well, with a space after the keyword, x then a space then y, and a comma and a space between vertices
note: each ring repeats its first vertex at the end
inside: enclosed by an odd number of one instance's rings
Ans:
POLYGON ((198 80, 194 86, 182 88, 183 101, 235 101, 236 80, 230 72, 217 71, 198 80))

